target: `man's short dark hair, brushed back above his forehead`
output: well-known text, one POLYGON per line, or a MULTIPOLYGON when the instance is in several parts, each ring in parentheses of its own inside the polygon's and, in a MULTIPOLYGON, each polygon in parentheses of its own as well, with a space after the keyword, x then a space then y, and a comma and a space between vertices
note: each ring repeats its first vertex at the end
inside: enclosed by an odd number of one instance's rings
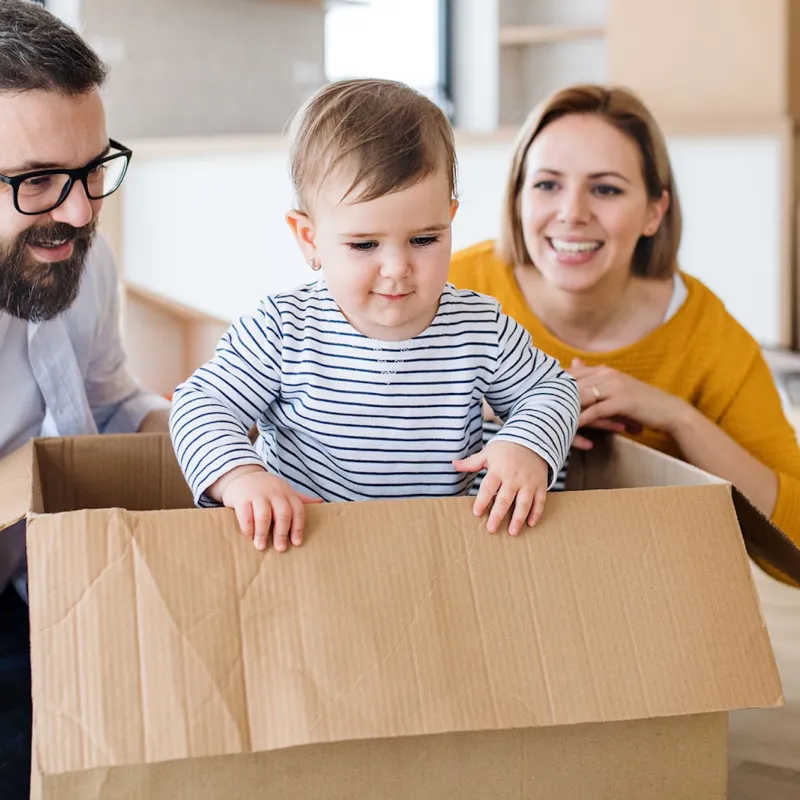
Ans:
POLYGON ((103 62, 69 25, 30 0, 0 0, 0 92, 81 95, 105 78, 103 62))

